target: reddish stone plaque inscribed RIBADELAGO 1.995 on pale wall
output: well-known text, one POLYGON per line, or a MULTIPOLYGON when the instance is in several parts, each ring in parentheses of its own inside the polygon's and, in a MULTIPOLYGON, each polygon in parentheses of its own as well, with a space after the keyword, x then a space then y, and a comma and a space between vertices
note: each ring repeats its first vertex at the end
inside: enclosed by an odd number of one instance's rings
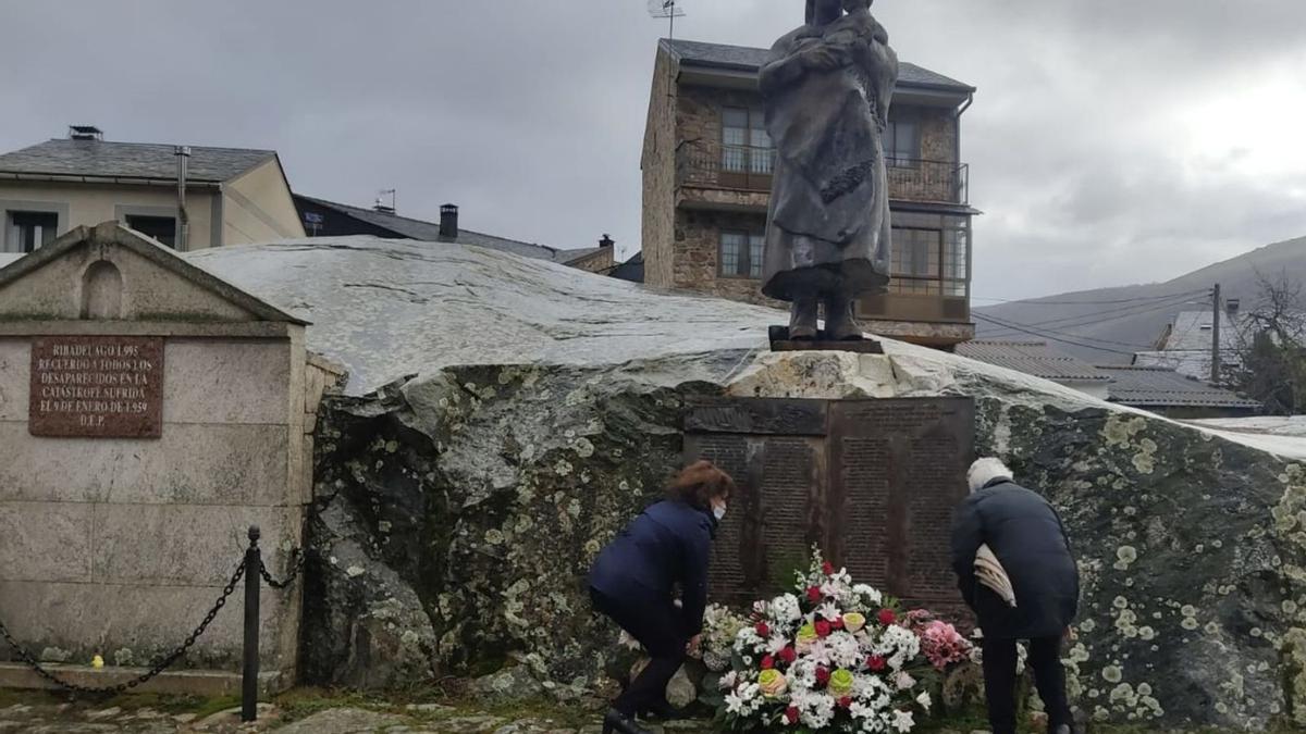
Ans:
POLYGON ((29 432, 57 438, 159 438, 162 337, 37 337, 29 432))

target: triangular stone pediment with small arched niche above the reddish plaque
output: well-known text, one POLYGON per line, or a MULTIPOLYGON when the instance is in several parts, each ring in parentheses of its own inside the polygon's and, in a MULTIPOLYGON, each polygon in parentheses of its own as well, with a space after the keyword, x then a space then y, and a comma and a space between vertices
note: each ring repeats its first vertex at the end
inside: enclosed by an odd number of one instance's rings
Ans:
POLYGON ((304 323, 118 222, 0 269, 0 321, 16 320, 304 323))

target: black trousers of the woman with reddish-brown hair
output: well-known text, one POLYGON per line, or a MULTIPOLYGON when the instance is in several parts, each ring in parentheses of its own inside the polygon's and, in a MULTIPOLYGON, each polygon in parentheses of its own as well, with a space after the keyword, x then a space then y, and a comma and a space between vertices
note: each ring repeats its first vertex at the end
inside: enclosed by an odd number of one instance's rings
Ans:
POLYGON ((613 701, 613 708, 626 716, 665 708, 666 684, 684 662, 684 645, 688 641, 682 631, 680 610, 670 598, 658 598, 652 593, 614 598, 592 588, 589 598, 596 611, 605 614, 639 640, 652 658, 613 701))

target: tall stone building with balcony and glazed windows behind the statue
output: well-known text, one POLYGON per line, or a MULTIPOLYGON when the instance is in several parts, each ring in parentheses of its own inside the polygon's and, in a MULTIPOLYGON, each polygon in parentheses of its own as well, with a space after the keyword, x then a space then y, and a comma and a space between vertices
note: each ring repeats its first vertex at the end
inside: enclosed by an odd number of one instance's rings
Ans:
MULTIPOLYGON (((768 303, 761 243, 774 150, 763 123, 764 48, 658 44, 644 133, 645 282, 768 303)), ((974 88, 902 63, 885 155, 893 282, 863 299, 872 332, 951 349, 970 323, 968 174, 960 119, 974 88)))

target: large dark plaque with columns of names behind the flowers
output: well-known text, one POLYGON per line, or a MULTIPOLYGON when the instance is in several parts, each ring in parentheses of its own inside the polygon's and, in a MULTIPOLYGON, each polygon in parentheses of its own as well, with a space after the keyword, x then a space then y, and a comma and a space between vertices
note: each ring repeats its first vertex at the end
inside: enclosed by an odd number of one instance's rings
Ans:
POLYGON ((690 407, 686 458, 739 485, 709 592, 747 603, 784 586, 815 542, 859 581, 940 613, 961 607, 952 509, 974 451, 970 398, 722 398, 690 407))

